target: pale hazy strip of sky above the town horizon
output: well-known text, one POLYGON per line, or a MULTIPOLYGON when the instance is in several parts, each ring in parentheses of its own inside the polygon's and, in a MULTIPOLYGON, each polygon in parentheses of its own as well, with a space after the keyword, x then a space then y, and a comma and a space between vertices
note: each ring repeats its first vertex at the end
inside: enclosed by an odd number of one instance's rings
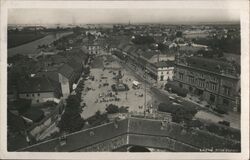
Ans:
POLYGON ((8 24, 239 22, 233 9, 9 9, 8 24))

